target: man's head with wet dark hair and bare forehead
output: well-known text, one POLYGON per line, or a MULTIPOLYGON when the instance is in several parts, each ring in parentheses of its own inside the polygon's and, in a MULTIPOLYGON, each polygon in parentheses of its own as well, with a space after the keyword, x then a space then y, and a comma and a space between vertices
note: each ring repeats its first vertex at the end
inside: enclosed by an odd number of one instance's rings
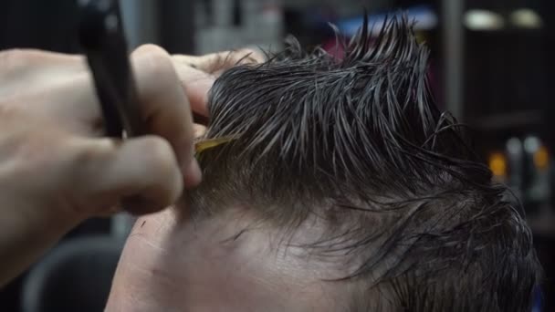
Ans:
POLYGON ((179 209, 137 223, 111 307, 147 288, 166 310, 529 308, 529 228, 435 107, 411 26, 345 48, 291 41, 216 80, 203 139, 229 140, 197 155, 204 182, 179 209))

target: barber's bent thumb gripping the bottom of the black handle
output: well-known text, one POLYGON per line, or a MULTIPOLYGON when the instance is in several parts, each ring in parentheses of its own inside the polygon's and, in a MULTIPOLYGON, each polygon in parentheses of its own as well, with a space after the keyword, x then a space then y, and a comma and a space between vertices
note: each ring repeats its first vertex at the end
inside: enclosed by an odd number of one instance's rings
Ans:
POLYGON ((87 140, 87 156, 77 171, 79 192, 89 201, 85 209, 93 210, 89 213, 106 214, 115 206, 133 214, 154 213, 181 195, 183 175, 167 140, 87 140))

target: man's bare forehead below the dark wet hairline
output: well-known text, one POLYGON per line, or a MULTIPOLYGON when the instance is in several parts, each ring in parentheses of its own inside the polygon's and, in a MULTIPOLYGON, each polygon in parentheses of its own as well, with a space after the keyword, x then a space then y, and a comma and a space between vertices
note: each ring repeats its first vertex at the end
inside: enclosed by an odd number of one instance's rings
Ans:
POLYGON ((307 269, 295 255, 275 249, 276 236, 259 225, 233 209, 195 222, 180 219, 174 210, 141 217, 120 259, 112 307, 131 296, 192 311, 219 307, 210 304, 325 310, 338 301, 330 300, 339 292, 321 280, 318 265, 307 269))

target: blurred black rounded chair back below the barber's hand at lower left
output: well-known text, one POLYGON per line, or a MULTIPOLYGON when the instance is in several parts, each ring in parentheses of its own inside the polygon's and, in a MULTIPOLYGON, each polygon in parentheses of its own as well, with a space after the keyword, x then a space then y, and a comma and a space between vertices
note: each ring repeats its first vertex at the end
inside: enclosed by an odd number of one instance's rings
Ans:
POLYGON ((122 246, 109 235, 59 244, 26 276, 22 311, 103 311, 122 246))

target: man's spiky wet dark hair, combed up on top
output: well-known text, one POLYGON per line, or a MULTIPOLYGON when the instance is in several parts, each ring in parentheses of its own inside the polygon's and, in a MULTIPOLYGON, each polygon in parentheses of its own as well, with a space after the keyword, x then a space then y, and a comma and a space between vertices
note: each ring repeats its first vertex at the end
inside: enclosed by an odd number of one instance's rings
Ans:
POLYGON ((342 59, 289 39, 215 81, 204 139, 233 140, 198 155, 193 206, 240 204, 285 229, 319 214, 330 234, 306 248, 356 259, 346 279, 388 289, 369 310, 529 309, 539 265, 520 207, 435 107, 413 25, 368 28, 342 59))

